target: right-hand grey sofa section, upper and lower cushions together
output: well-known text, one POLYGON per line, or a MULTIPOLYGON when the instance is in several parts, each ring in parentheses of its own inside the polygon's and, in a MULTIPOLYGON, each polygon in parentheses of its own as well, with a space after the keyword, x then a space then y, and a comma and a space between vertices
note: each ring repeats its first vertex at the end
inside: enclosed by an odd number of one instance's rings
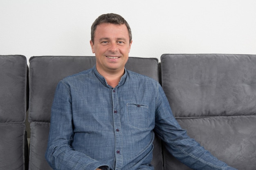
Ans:
MULTIPOLYGON (((256 167, 256 55, 164 54, 162 86, 180 125, 218 159, 256 167)), ((188 170, 165 152, 165 168, 188 170)))

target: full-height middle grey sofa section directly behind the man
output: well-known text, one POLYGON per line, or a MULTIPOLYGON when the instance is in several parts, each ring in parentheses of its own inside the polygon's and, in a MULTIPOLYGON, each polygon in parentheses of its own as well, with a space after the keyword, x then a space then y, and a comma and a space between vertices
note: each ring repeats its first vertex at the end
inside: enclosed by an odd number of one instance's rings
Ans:
MULTIPOLYGON (((31 57, 29 62, 29 121, 31 122, 29 170, 51 170, 45 160, 45 150, 56 85, 68 75, 92 68, 96 59, 92 56, 37 56, 31 57)), ((126 68, 158 80, 156 58, 129 57, 126 68)), ((155 157, 152 163, 157 170, 163 170, 162 143, 156 138, 154 144, 155 157)))

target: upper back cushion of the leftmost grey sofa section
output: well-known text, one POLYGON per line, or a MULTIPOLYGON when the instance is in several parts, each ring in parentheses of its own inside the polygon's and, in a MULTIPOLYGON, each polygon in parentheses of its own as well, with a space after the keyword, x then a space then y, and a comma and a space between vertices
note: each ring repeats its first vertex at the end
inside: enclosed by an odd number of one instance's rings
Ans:
POLYGON ((27 59, 0 55, 0 123, 24 123, 27 111, 27 59))

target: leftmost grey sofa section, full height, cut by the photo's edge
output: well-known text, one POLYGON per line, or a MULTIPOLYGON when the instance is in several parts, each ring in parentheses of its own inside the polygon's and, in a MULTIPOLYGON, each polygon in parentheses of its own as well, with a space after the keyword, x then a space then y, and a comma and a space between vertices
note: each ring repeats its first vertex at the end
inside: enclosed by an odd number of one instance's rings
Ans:
POLYGON ((0 55, 0 169, 26 170, 27 59, 0 55))

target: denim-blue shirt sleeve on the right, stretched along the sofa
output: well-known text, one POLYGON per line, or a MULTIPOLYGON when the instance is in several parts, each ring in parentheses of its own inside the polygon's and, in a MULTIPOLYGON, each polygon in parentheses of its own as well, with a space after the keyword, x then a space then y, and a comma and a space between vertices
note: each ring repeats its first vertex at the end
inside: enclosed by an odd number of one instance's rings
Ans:
POLYGON ((236 170, 218 160, 182 129, 171 111, 162 87, 159 87, 155 132, 175 158, 195 170, 236 170))

